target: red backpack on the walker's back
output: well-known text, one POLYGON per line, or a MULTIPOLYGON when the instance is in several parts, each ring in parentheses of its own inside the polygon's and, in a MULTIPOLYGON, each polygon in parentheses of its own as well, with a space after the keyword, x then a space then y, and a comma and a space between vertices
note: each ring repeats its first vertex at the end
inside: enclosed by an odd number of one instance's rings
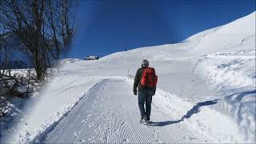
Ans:
POLYGON ((155 75, 154 68, 146 67, 142 72, 141 86, 154 88, 157 86, 158 76, 155 75))

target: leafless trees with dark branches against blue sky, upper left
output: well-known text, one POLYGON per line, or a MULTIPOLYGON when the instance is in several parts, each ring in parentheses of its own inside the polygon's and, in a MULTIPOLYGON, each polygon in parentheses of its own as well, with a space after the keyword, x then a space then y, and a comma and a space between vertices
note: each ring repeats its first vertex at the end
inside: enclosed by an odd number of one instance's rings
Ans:
POLYGON ((52 59, 70 48, 75 21, 72 0, 2 0, 0 22, 21 40, 34 60, 38 81, 52 59))

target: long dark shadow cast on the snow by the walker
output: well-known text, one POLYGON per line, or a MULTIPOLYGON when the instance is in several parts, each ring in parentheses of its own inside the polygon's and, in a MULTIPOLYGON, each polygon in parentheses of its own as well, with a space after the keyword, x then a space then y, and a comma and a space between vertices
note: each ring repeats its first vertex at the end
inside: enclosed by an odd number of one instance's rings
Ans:
POLYGON ((186 112, 185 115, 182 116, 181 119, 177 121, 166 121, 166 122, 150 122, 149 126, 167 126, 174 123, 182 122, 185 118, 190 118, 193 114, 198 114, 200 112, 201 106, 207 106, 207 105, 214 105, 218 102, 220 99, 214 99, 213 101, 206 101, 206 102, 198 102, 195 106, 192 107, 189 111, 186 112))

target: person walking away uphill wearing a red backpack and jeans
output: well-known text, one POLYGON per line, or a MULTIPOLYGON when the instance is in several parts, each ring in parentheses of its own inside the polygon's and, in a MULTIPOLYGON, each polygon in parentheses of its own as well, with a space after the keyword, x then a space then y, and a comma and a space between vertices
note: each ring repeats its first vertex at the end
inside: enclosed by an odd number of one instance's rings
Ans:
POLYGON ((137 70, 134 78, 134 95, 138 92, 138 108, 141 112, 140 123, 150 122, 152 96, 155 94, 158 82, 154 68, 149 66, 149 61, 143 59, 142 67, 137 70))

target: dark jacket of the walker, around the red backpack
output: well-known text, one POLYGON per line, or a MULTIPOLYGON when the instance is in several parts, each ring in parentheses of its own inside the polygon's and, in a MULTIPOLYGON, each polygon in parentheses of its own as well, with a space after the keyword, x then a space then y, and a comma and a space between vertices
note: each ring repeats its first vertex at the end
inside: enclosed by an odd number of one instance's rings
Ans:
MULTIPOLYGON (((142 80, 142 72, 143 72, 143 67, 139 68, 136 72, 135 78, 134 78, 134 91, 137 91, 137 87, 138 87, 138 91, 140 90, 149 90, 148 87, 143 87, 141 86, 141 80, 142 80)), ((152 88, 151 88, 152 90, 152 88)), ((154 92, 156 90, 156 87, 154 87, 154 92)))

